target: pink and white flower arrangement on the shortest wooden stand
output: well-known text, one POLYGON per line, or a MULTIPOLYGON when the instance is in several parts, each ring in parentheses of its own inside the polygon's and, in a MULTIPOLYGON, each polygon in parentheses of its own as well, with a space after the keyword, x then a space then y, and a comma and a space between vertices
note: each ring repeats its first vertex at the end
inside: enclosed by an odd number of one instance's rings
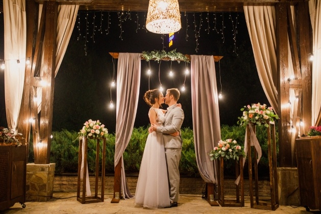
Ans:
POLYGON ((237 142, 232 139, 227 139, 225 141, 220 140, 218 146, 209 153, 210 160, 223 157, 225 159, 236 159, 238 161, 239 157, 245 157, 244 146, 237 145, 237 142))

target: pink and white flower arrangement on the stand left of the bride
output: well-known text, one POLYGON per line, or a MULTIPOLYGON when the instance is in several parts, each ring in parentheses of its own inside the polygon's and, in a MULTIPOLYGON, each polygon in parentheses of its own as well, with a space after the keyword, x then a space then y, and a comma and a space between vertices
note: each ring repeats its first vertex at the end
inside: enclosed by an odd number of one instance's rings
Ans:
POLYGON ((105 128, 104 124, 101 124, 99 120, 88 120, 84 123, 83 129, 78 132, 79 137, 86 138, 107 138, 108 129, 105 128))

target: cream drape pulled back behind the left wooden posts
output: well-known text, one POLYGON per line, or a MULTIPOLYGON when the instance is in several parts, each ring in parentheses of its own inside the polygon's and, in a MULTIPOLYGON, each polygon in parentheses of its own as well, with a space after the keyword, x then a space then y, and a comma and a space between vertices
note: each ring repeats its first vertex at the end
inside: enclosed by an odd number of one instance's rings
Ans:
MULTIPOLYGON (((42 12, 42 4, 39 5, 39 21, 42 12)), ((58 6, 58 20, 57 20, 57 51, 56 51, 56 70, 55 76, 58 73, 61 62, 65 56, 65 52, 76 22, 79 5, 59 5, 58 6)), ((42 55, 43 56, 43 55, 42 55)), ((43 60, 43 59, 42 59, 43 60)), ((42 69, 40 76, 42 75, 42 69)), ((42 89, 37 89, 38 112, 41 110, 41 94, 42 89)))

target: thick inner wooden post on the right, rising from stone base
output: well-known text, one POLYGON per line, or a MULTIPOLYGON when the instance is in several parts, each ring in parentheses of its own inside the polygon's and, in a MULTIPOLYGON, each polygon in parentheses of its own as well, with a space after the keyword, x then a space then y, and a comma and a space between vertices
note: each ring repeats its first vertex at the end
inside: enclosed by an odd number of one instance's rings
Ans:
POLYGON ((278 108, 279 108, 279 162, 280 167, 292 167, 290 142, 290 108, 289 102, 289 65, 288 65, 288 35, 287 6, 278 3, 276 10, 276 40, 277 40, 277 68, 278 68, 278 108))

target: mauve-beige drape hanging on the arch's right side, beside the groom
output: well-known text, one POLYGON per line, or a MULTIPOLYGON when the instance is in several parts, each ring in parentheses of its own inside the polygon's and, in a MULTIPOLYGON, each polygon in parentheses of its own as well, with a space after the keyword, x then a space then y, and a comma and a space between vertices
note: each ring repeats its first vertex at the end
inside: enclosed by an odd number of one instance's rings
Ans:
POLYGON ((198 170, 207 183, 217 182, 216 160, 208 153, 221 139, 218 91, 213 56, 191 55, 192 114, 198 170))

